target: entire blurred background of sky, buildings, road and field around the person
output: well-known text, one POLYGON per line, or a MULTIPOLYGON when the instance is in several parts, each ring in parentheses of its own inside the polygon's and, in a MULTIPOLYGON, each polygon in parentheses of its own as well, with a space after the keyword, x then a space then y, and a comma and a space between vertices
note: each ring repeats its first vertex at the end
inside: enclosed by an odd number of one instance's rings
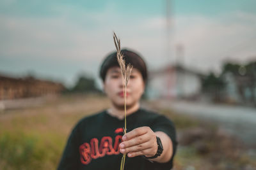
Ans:
POLYGON ((143 107, 177 127, 173 169, 256 169, 255 6, 0 1, 0 169, 56 169, 76 122, 108 108, 113 31, 147 62, 143 107))

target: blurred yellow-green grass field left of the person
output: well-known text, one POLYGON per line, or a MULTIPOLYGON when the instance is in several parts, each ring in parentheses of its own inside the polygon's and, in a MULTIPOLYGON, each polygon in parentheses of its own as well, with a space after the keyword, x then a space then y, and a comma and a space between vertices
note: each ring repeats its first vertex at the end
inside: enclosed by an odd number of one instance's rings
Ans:
POLYGON ((66 96, 39 108, 1 113, 1 170, 56 169, 76 122, 109 105, 104 97, 90 97, 66 96))

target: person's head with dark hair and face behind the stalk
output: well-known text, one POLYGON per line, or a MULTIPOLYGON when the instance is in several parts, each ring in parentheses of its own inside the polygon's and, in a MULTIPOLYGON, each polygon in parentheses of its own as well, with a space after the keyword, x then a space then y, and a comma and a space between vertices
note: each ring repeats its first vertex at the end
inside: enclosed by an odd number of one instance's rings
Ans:
MULTIPOLYGON (((127 108, 138 104, 145 90, 147 82, 147 66, 144 60, 135 52, 122 50, 126 64, 133 66, 130 80, 127 85, 127 108)), ((100 78, 103 81, 104 91, 111 103, 122 110, 124 108, 124 92, 122 85, 122 74, 116 52, 109 54, 100 67, 100 78)))

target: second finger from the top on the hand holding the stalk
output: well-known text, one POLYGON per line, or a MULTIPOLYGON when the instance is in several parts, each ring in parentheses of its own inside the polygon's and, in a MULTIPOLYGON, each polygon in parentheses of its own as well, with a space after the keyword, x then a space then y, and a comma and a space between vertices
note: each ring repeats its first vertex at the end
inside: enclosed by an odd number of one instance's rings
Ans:
POLYGON ((120 143, 120 148, 128 148, 134 145, 139 145, 141 143, 145 143, 150 140, 150 136, 148 134, 143 134, 141 136, 137 136, 135 138, 130 139, 129 141, 124 141, 120 143))

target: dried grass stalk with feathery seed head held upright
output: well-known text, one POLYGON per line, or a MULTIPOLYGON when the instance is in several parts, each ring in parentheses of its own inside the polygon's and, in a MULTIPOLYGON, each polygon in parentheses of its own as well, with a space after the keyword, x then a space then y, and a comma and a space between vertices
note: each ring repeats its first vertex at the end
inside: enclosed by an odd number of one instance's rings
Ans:
MULTIPOLYGON (((129 63, 127 67, 125 66, 124 55, 121 53, 120 39, 117 38, 115 32, 113 38, 116 46, 116 58, 122 72, 122 82, 124 91, 124 134, 126 134, 126 89, 132 72, 132 65, 129 63)), ((120 170, 124 170, 125 157, 126 154, 124 153, 121 160, 120 170)))

